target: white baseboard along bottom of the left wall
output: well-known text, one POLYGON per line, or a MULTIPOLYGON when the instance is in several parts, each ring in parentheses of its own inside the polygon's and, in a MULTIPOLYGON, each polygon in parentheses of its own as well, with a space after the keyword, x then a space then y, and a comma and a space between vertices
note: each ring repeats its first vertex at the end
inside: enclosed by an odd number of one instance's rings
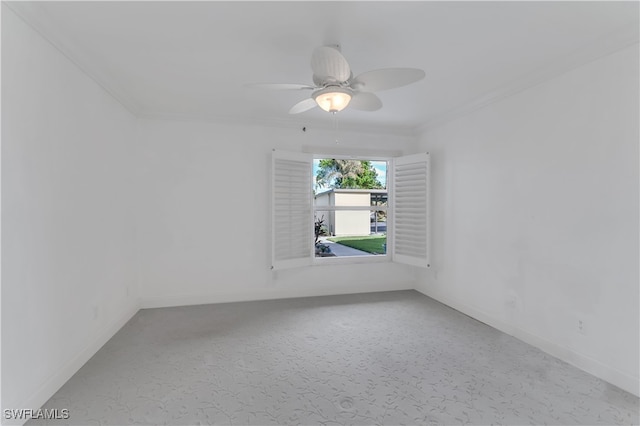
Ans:
MULTIPOLYGON (((12 404, 10 407, 3 408, 38 409, 42 407, 49 398, 51 398, 62 387, 62 385, 76 374, 76 372, 138 312, 138 310, 139 306, 137 301, 126 309, 123 309, 118 315, 116 315, 115 320, 105 325, 98 333, 96 333, 96 337, 90 341, 84 349, 80 351, 80 353, 64 365, 61 365, 60 368, 45 380, 35 392, 23 398, 21 403, 12 404)), ((6 420, 4 419, 4 416, 2 417, 2 425, 22 426, 29 420, 6 420)))

